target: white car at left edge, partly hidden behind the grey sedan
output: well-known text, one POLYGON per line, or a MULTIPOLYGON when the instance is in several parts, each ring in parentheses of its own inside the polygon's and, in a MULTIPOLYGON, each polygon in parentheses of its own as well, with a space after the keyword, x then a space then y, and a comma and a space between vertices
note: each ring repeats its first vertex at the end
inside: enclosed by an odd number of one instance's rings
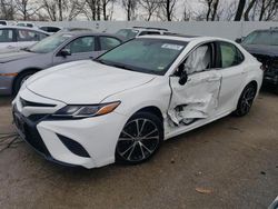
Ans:
POLYGON ((2 26, 0 27, 0 52, 14 51, 20 48, 30 47, 48 36, 49 33, 42 30, 2 26))

